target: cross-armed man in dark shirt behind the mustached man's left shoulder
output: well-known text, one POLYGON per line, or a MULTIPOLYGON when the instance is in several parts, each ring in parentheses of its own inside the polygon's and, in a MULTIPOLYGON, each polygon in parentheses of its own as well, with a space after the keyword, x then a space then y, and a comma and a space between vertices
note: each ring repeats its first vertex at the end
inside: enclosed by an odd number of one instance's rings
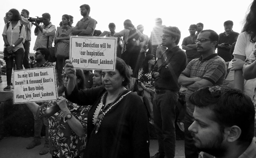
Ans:
POLYGON ((200 53, 197 52, 195 41, 197 39, 197 35, 195 34, 196 31, 196 24, 192 24, 189 27, 189 33, 190 35, 188 37, 185 37, 182 41, 182 49, 186 50, 186 55, 188 59, 188 63, 192 59, 197 59, 201 56, 200 53))

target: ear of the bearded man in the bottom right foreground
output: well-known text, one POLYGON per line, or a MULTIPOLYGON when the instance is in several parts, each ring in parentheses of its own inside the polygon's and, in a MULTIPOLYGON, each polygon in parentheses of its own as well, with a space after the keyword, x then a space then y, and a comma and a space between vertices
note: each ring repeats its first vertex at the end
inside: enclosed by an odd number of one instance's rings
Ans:
POLYGON ((224 134, 226 135, 228 142, 236 141, 241 135, 241 128, 234 125, 231 127, 225 127, 224 134))

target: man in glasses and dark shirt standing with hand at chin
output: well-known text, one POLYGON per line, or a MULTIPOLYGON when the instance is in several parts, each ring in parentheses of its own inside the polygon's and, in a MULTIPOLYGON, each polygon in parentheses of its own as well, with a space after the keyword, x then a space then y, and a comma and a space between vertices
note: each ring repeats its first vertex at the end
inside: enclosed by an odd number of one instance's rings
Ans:
POLYGON ((162 45, 168 49, 157 60, 152 71, 155 79, 153 115, 158 152, 151 158, 174 158, 175 156, 175 107, 180 85, 178 77, 186 67, 186 53, 179 48, 181 32, 177 27, 164 27, 162 45))

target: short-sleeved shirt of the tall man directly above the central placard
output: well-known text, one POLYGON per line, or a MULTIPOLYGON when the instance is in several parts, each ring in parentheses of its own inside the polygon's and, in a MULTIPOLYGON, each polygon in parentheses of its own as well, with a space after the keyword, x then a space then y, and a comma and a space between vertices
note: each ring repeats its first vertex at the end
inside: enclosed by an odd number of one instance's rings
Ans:
POLYGON ((82 18, 75 25, 75 29, 77 30, 84 30, 88 27, 92 28, 92 31, 90 32, 89 36, 93 36, 94 29, 96 27, 96 20, 92 19, 91 17, 87 17, 86 19, 82 18))

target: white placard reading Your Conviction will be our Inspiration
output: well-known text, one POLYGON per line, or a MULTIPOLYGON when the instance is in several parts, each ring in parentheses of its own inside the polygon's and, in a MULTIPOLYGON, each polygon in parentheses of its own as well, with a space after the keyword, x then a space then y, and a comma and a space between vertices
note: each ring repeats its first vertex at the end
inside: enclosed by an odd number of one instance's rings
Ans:
POLYGON ((70 36, 70 60, 76 69, 116 70, 117 37, 70 36))

